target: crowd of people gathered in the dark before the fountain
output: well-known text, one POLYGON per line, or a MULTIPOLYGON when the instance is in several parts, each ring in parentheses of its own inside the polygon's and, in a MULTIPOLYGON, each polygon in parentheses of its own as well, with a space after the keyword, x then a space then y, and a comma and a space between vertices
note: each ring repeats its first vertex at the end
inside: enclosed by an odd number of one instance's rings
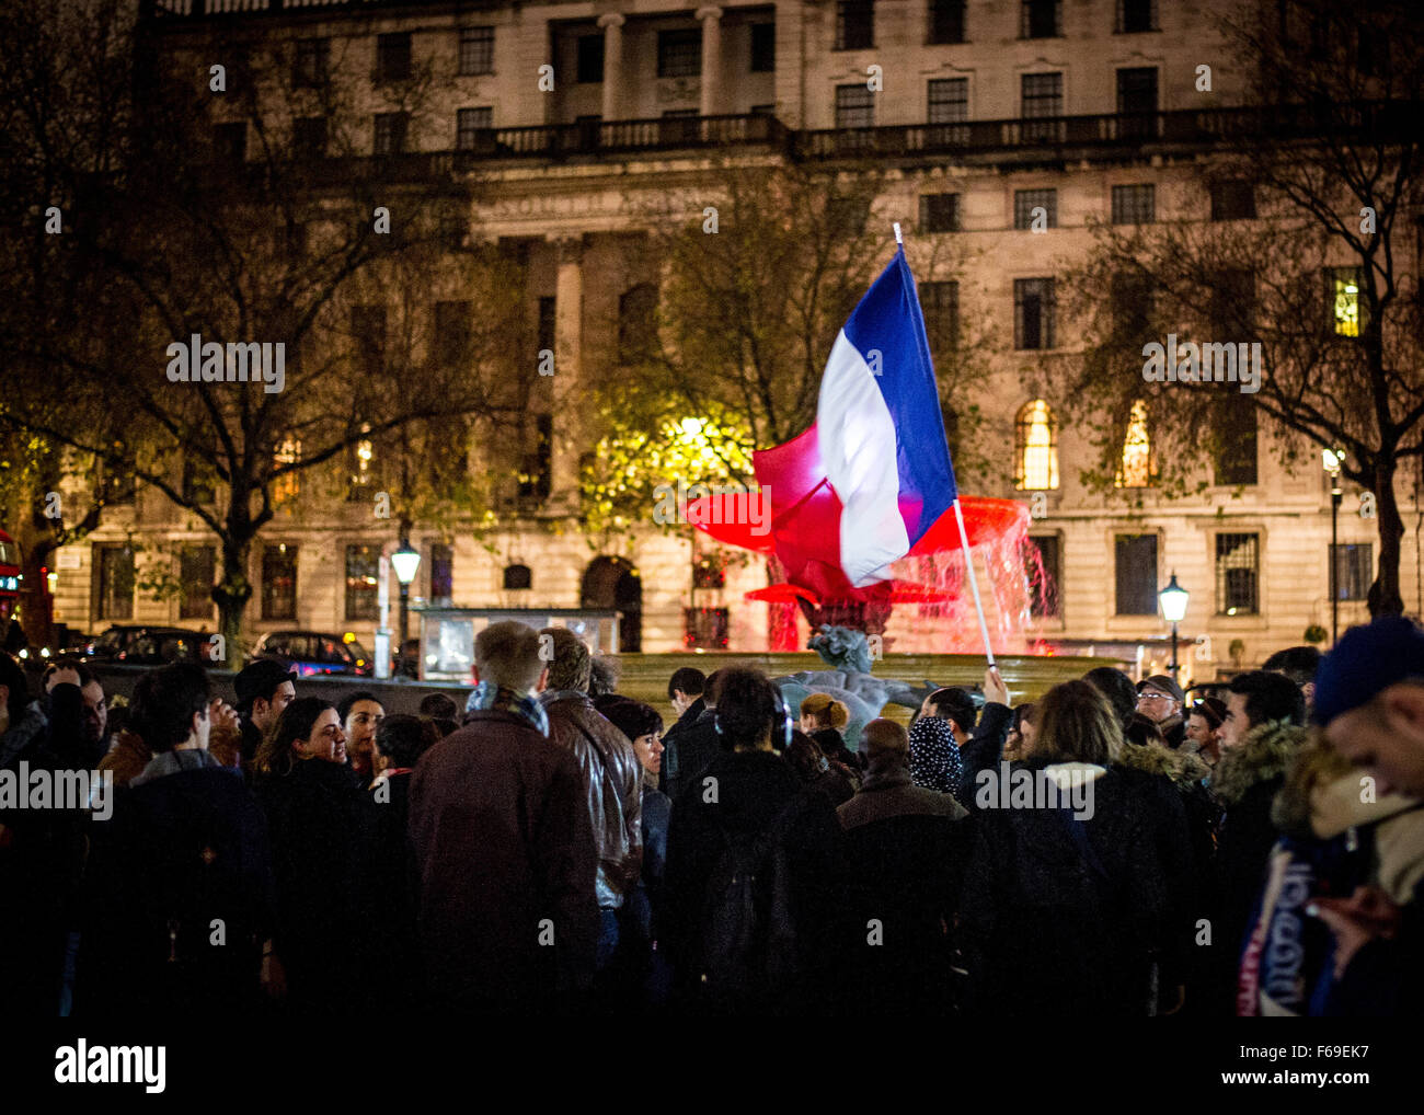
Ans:
POLYGON ((262 659, 235 708, 169 665, 111 716, 83 662, 31 698, 0 655, 0 773, 115 787, 104 819, 0 800, 0 980, 85 1018, 1397 1015, 1424 994, 1424 632, 1317 659, 1196 699, 1098 668, 1018 706, 991 669, 852 746, 842 702, 736 666, 678 669, 665 725, 513 621, 463 709, 410 713, 262 659))

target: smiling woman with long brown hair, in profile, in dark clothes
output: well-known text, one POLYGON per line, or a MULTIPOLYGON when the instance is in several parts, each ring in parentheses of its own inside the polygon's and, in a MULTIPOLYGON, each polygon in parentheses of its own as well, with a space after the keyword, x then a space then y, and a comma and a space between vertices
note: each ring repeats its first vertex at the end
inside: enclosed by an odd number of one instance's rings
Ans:
POLYGON ((346 766, 346 733, 329 701, 292 701, 262 738, 255 790, 276 880, 276 954, 292 1007, 367 1005, 379 963, 372 938, 376 806, 346 766))

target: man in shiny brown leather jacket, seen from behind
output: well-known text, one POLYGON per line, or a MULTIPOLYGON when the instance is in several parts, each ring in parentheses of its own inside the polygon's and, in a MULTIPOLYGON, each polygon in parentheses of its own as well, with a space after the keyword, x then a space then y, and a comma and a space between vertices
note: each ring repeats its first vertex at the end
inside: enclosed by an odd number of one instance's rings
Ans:
POLYGON ((642 871, 642 768, 632 743, 595 708, 588 696, 592 655, 572 631, 540 631, 541 655, 548 664, 548 689, 540 702, 548 713, 548 738, 572 752, 584 778, 584 796, 598 846, 597 968, 618 947, 618 910, 642 871))

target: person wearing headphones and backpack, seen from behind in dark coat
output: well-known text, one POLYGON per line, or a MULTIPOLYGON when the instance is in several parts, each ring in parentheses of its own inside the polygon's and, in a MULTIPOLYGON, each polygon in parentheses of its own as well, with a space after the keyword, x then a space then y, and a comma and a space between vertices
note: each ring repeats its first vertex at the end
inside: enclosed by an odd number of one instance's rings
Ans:
POLYGON ((713 1014, 823 1008, 844 931, 844 834, 830 800, 776 753, 793 721, 765 675, 721 671, 715 709, 722 753, 668 826, 679 1000, 713 1014))

